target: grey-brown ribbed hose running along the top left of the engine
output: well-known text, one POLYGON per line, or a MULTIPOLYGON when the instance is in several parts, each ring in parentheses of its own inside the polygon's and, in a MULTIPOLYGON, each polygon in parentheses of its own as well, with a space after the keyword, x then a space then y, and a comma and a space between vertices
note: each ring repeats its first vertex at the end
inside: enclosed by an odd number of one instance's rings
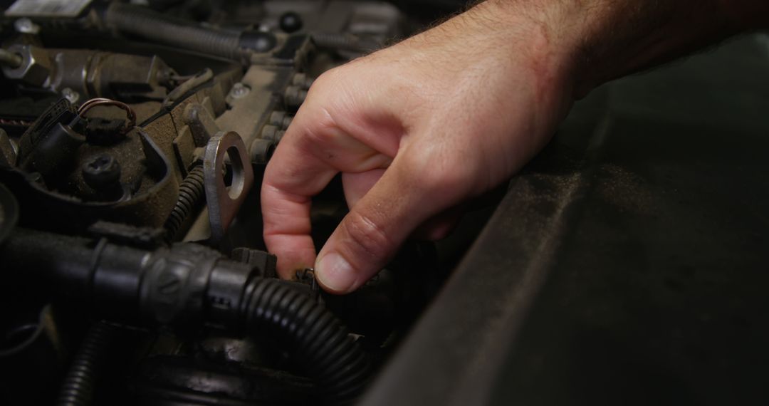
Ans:
POLYGON ((209 55, 239 59, 239 32, 225 32, 190 25, 178 18, 170 18, 145 7, 112 2, 105 12, 108 27, 141 38, 177 46, 209 55))

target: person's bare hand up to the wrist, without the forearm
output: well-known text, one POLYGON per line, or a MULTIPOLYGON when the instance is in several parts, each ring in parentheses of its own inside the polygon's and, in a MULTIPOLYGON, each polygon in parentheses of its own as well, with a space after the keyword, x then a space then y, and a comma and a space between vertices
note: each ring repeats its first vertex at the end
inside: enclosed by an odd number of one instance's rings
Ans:
POLYGON ((321 75, 265 172, 265 242, 284 278, 328 291, 375 275, 418 229, 508 179, 571 105, 568 58, 530 18, 489 3, 321 75), (318 254, 311 197, 342 173, 349 214, 318 254))

